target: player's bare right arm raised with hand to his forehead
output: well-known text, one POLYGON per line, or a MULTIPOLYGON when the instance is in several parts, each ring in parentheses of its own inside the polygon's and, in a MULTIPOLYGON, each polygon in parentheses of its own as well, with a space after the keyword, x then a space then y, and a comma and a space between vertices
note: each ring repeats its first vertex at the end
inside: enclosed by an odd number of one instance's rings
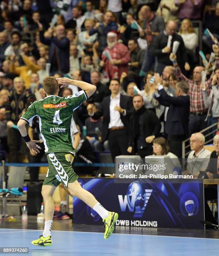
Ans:
POLYGON ((87 94, 87 97, 89 98, 97 89, 97 87, 93 84, 89 84, 84 81, 77 81, 77 80, 72 80, 67 77, 61 77, 61 78, 56 78, 57 82, 59 84, 62 84, 62 87, 66 87, 68 84, 75 85, 77 87, 80 87, 82 90, 85 91, 87 94))

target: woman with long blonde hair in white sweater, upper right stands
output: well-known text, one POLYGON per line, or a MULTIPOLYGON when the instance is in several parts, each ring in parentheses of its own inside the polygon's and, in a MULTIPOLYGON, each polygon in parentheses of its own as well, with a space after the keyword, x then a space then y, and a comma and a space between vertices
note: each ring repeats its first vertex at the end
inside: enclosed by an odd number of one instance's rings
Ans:
POLYGON ((183 38, 183 42, 188 54, 189 64, 198 62, 196 57, 196 47, 198 46, 198 36, 196 35, 191 20, 184 19, 179 28, 179 35, 183 38))

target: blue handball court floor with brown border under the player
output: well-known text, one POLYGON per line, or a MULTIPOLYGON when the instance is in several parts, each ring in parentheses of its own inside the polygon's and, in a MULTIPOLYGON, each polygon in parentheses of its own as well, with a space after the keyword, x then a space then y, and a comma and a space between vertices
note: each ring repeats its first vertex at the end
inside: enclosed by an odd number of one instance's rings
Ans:
POLYGON ((1 221, 0 247, 29 247, 29 255, 33 256, 218 256, 219 253, 218 230, 116 226, 112 236, 104 240, 102 226, 54 220, 53 245, 33 246, 31 241, 42 234, 43 226, 36 223, 36 216, 28 216, 28 223, 22 223, 20 216, 16 222, 1 221))

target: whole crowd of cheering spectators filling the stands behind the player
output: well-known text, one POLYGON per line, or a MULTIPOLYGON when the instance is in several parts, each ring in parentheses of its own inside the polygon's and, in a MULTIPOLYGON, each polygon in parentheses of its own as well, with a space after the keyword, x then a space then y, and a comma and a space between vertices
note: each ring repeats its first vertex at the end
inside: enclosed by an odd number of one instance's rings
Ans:
MULTIPOLYGON (((74 112, 91 151, 145 157, 168 142, 181 158, 182 141, 219 118, 218 40, 217 0, 2 0, 0 149, 33 161, 17 122, 50 75, 97 86, 74 112)), ((68 89, 60 96, 80 90, 68 89)), ((37 120, 29 134, 41 140, 37 120)))

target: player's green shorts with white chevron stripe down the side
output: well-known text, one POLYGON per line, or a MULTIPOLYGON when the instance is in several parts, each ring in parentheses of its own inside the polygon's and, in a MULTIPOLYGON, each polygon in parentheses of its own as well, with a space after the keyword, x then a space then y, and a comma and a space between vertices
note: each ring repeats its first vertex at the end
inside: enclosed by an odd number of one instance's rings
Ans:
POLYGON ((58 187, 62 183, 68 187, 68 183, 78 179, 78 175, 71 166, 74 159, 72 154, 65 152, 49 153, 47 159, 49 166, 43 185, 58 187))

